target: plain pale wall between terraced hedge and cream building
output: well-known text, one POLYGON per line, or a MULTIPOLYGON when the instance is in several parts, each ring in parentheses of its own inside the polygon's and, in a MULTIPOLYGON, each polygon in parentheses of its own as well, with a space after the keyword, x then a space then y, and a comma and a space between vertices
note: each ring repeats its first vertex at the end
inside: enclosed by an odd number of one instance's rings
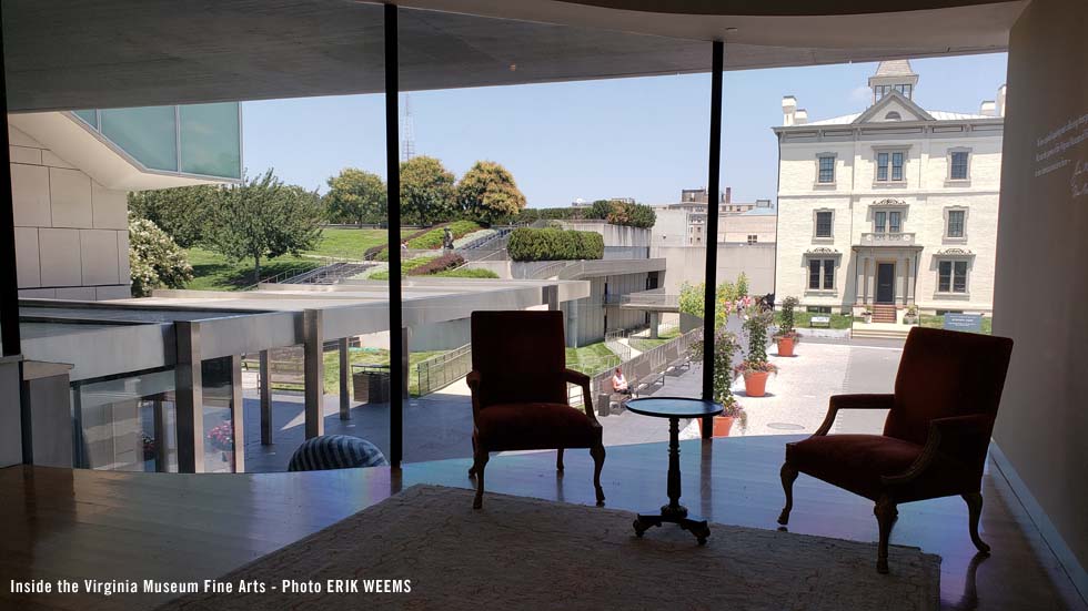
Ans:
MULTIPOLYGON (((663 286, 668 295, 678 295, 686 282, 698 284, 705 279, 706 248, 703 246, 655 246, 649 256, 666 259, 663 286)), ((775 291, 774 244, 718 244, 717 281, 733 282, 744 272, 753 295, 775 291)))

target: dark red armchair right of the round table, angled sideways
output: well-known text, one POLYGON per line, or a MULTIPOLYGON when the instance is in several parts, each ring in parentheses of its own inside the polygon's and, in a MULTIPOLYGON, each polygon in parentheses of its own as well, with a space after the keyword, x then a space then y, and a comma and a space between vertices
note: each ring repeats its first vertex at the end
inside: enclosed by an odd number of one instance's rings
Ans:
POLYGON ((793 485, 807 473, 876 502, 876 568, 888 572, 888 539, 903 502, 959 495, 971 542, 983 511, 981 478, 1013 340, 915 327, 907 337, 893 395, 838 395, 812 437, 786 444, 782 487, 789 521, 793 485), (840 409, 888 409, 884 435, 828 435, 840 409))

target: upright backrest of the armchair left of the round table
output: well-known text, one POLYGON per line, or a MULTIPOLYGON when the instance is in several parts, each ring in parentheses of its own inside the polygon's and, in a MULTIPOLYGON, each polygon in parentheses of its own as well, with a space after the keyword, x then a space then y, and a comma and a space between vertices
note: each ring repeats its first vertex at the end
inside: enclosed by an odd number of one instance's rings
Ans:
POLYGON ((472 313, 472 368, 481 408, 512 403, 567 403, 563 313, 472 313))

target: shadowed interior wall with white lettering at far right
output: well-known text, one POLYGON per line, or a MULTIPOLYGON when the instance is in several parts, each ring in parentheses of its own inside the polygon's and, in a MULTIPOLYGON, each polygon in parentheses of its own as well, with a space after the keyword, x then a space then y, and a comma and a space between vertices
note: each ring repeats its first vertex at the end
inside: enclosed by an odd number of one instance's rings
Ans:
POLYGON ((1036 0, 1009 41, 994 333, 1016 347, 994 440, 1017 496, 1088 597, 1086 27, 1082 0, 1036 0))

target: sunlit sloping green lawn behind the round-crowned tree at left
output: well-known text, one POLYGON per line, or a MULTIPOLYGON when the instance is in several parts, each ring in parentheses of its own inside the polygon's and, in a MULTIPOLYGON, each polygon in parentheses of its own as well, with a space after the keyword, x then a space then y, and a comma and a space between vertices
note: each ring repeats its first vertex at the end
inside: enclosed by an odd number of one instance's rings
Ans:
MULTIPOLYGON (((407 235, 414 230, 402 230, 407 235)), ((333 227, 322 230, 318 247, 306 252, 309 255, 333 258, 362 258, 371 246, 385 243, 385 230, 353 230, 333 227)), ((226 257, 204 248, 189 250, 189 263, 193 266, 193 279, 185 288, 199 291, 238 291, 256 284, 253 262, 243 261, 238 265, 228 263, 226 257)), ((284 272, 301 274, 322 265, 321 259, 284 255, 261 262, 261 279, 284 272)))

